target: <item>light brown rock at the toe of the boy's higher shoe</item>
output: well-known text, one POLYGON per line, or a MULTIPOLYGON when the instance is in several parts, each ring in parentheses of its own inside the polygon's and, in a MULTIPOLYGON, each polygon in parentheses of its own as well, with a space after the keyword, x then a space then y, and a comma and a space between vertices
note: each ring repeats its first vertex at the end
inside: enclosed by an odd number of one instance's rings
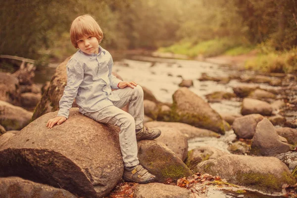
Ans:
POLYGON ((158 127, 158 129, 160 129, 162 133, 160 137, 155 140, 166 145, 176 156, 184 161, 188 153, 187 137, 178 129, 171 127, 158 127))

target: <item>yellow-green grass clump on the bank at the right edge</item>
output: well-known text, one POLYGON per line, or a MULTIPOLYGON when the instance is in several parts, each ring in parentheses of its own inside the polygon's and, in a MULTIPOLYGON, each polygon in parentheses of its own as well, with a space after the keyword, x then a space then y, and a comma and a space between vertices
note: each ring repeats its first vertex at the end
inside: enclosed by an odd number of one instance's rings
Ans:
POLYGON ((271 51, 261 53, 257 57, 247 60, 247 69, 262 72, 296 73, 297 72, 297 49, 289 51, 271 51))

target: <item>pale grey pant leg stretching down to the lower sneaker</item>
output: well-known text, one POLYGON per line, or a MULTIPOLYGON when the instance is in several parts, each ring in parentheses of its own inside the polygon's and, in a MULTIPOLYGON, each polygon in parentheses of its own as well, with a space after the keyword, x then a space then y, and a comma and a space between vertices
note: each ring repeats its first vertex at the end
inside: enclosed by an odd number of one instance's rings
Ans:
POLYGON ((134 118, 116 106, 107 106, 97 112, 85 113, 86 116, 103 123, 120 127, 119 142, 125 166, 139 164, 134 118))

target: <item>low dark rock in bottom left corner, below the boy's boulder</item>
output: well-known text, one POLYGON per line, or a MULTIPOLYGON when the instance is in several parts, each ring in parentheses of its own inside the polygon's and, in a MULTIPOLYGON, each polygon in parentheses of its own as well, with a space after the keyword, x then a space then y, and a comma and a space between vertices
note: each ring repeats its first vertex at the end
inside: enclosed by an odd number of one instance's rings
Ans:
POLYGON ((0 178, 1 198, 77 198, 68 191, 19 177, 0 178))

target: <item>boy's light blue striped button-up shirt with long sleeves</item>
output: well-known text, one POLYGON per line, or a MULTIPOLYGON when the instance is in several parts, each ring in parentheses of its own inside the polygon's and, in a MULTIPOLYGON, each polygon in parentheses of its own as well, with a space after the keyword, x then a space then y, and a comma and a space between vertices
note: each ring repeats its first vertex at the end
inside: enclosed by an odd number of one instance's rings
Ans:
POLYGON ((58 116, 68 118, 75 99, 81 113, 95 112, 113 105, 119 97, 111 89, 118 89, 121 80, 111 74, 112 57, 99 46, 98 54, 78 50, 67 63, 67 85, 59 101, 58 116))

